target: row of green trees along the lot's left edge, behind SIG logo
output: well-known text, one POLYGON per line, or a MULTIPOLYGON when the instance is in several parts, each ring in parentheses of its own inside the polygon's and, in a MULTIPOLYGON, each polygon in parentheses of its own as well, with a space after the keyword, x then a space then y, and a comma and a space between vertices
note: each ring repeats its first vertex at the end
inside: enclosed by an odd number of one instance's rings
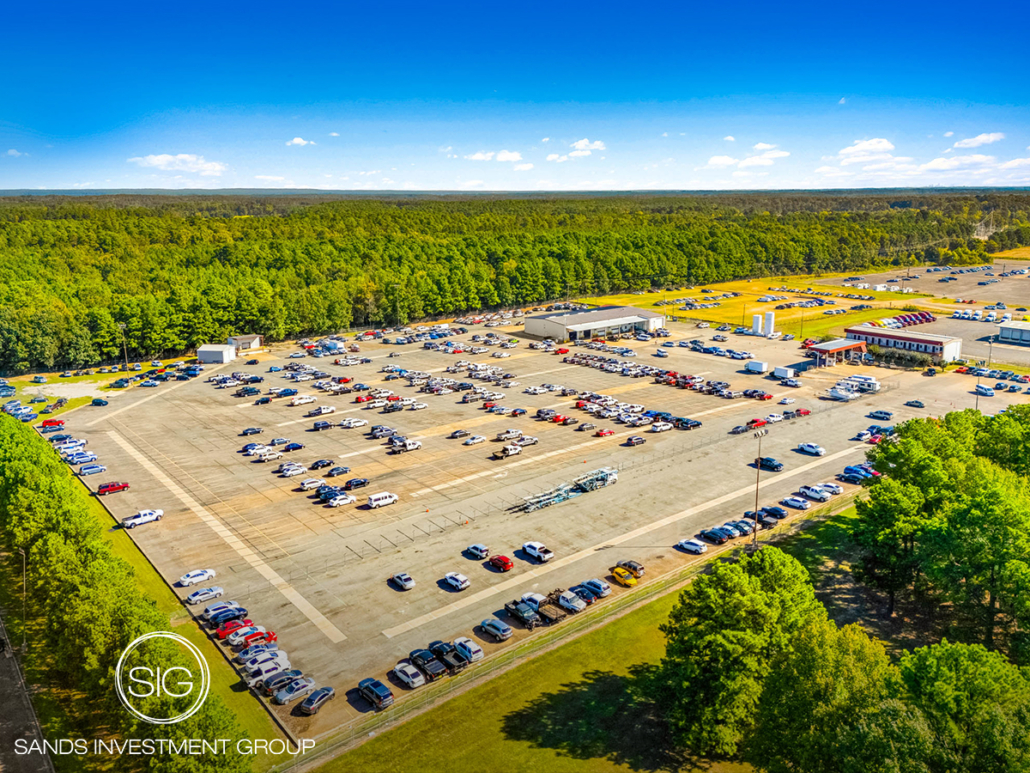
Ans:
MULTIPOLYGON (((45 620, 37 651, 45 650, 48 683, 57 694, 71 691, 90 706, 91 726, 76 729, 122 738, 245 738, 236 717, 217 696, 208 696, 198 713, 177 725, 144 724, 121 704, 114 690, 114 667, 126 646, 151 631, 169 631, 168 616, 140 590, 132 568, 112 554, 102 527, 90 513, 82 485, 45 440, 31 428, 0 416, 0 539, 4 551, 18 559, 24 549, 32 567, 28 605, 45 620)), ((18 568, 21 569, 21 562, 18 568)), ((136 665, 188 668, 175 649, 151 648, 136 665)), ((162 701, 170 699, 163 698, 162 701)), ((160 707, 151 699, 148 707, 160 707)), ((171 712, 174 713, 174 712, 171 712)), ((156 713, 154 715, 168 715, 156 713)), ((114 770, 135 770, 145 759, 113 758, 114 770)), ((154 770, 228 771, 243 773, 249 760, 231 748, 224 755, 163 757, 154 770)))

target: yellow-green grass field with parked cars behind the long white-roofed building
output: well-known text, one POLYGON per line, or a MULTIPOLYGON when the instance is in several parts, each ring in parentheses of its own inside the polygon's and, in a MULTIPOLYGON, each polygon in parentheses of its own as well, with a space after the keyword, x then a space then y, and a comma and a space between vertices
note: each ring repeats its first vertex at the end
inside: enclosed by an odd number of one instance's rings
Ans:
MULTIPOLYGON (((865 290, 857 291, 863 295, 874 296, 876 300, 852 301, 849 299, 835 298, 832 300, 837 301, 836 308, 847 309, 850 306, 862 303, 872 304, 876 308, 863 309, 861 311, 849 311, 846 314, 835 316, 824 314, 824 309, 822 308, 791 308, 778 311, 776 310, 777 303, 758 303, 758 299, 767 294, 786 295, 791 300, 804 299, 808 296, 795 296, 792 293, 776 293, 770 291, 769 288, 786 285, 803 290, 806 287, 818 284, 819 280, 824 278, 827 277, 776 276, 764 279, 753 279, 750 281, 744 279, 740 281, 727 281, 719 284, 712 284, 709 287, 716 291, 712 295, 719 295, 725 292, 736 292, 742 295, 736 298, 718 301, 721 305, 717 308, 698 309, 696 311, 679 311, 677 310, 677 306, 656 306, 655 303, 666 299, 675 300, 676 298, 703 298, 700 288, 695 288, 691 291, 677 290, 670 291, 667 293, 646 293, 643 295, 625 293, 621 295, 604 296, 602 298, 584 298, 581 300, 583 303, 589 303, 597 306, 638 306, 652 311, 664 309, 666 313, 679 318, 686 317, 690 320, 703 320, 709 323, 727 323, 733 326, 744 325, 747 327, 751 327, 751 317, 753 314, 774 311, 776 313, 777 330, 783 333, 792 333, 799 337, 803 335, 804 337, 811 336, 813 338, 817 338, 821 335, 843 331, 845 328, 852 325, 859 325, 863 322, 868 322, 869 320, 878 320, 882 316, 890 316, 891 314, 899 313, 902 306, 918 304, 921 298, 927 297, 914 293, 873 293, 865 290)), ((823 287, 827 290, 833 288, 833 285, 823 287)), ((839 292, 839 288, 836 288, 833 292, 839 292)))

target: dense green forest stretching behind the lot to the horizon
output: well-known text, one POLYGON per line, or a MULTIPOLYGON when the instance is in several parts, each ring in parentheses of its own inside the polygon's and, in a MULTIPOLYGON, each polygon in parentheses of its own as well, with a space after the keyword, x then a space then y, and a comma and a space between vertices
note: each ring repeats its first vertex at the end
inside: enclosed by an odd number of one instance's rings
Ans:
POLYGON ((790 273, 970 264, 1030 195, 0 199, 0 371, 790 273), (975 225, 991 215, 987 241, 975 225))

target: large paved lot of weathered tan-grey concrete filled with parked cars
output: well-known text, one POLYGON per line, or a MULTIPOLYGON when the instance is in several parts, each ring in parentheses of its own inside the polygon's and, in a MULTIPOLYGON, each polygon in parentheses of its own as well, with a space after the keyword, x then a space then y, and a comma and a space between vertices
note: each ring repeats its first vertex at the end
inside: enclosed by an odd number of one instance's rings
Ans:
MULTIPOLYGON (((711 338, 713 333, 679 326, 673 340, 711 338)), ((751 350, 772 365, 800 359, 796 342, 731 336, 727 345, 751 350)), ((608 567, 621 559, 644 563, 652 577, 693 560, 674 547, 678 540, 730 516, 740 517, 754 505, 755 470, 749 463, 757 441, 750 433, 736 436, 729 430, 784 410, 776 404, 781 397, 794 398, 792 408, 808 407, 813 414, 770 427, 762 453, 780 459, 785 470, 762 473, 761 504, 772 504, 798 485, 832 479, 843 467, 860 461, 867 446, 852 437, 872 423, 866 417, 870 409, 893 410, 896 422, 973 404, 972 381, 960 375, 925 378, 840 367, 805 376, 801 389, 789 389, 744 374, 740 361, 685 348, 670 349, 670 357, 659 360, 653 356, 654 344, 634 344, 638 361, 722 378, 734 389, 762 388, 776 400, 723 400, 655 384, 650 378, 569 365, 560 356, 528 350, 525 342, 505 360, 486 355, 455 358, 415 346, 363 347, 363 355, 373 359, 371 364, 342 368, 332 365, 332 359, 306 362, 404 396, 417 393, 403 380, 383 382, 383 365, 442 373, 459 358, 503 364, 520 382, 506 390, 503 403, 526 408, 528 414, 518 418, 489 414, 478 403, 460 404, 455 393, 418 395, 428 403, 427 409, 380 415, 353 403, 353 395, 327 396, 309 383, 297 384, 301 394, 318 395, 316 405, 336 407, 328 418, 338 423, 359 416, 422 442, 420 450, 390 455, 383 441, 365 434, 368 428, 311 431, 315 419, 304 417, 310 405, 289 407, 277 400, 259 406, 253 398, 234 398, 234 390, 214 389, 203 380, 217 372, 208 367, 200 379, 154 390, 137 388, 112 401, 109 409, 79 411, 69 421, 69 429, 89 439, 90 449, 108 468, 87 482, 93 488, 112 479, 131 483, 130 491, 105 500, 118 518, 142 508, 165 511, 163 520, 140 527, 132 536, 166 579, 172 582, 192 569, 215 569, 216 582, 228 598, 246 606, 255 621, 278 632, 294 667, 319 683, 334 685, 341 699, 358 679, 385 678, 399 659, 433 640, 460 635, 479 639, 475 626, 525 592, 547 593, 604 577, 608 567), (387 359, 390 351, 402 354, 387 359), (848 404, 818 399, 840 375, 860 372, 878 375, 885 392, 848 404), (522 393, 525 386, 541 383, 614 395, 698 418, 703 427, 652 434, 591 419, 616 431, 614 437, 594 438, 591 432, 533 418, 538 408, 568 407, 573 402, 554 393, 522 393), (915 397, 926 403, 926 409, 903 407, 915 397), (320 506, 312 495, 299 491, 304 476, 280 477, 273 472, 275 464, 254 462, 240 452, 253 439, 240 437, 245 427, 263 428, 264 440, 283 436, 305 443, 289 458, 305 464, 331 459, 351 468, 346 477, 367 477, 372 482, 358 492, 356 505, 320 506), (509 427, 539 437, 540 443, 519 457, 497 461, 491 453, 499 442, 465 446, 447 437, 465 428, 493 438, 509 427), (628 447, 624 441, 630 434, 644 435, 648 441, 628 447), (823 445, 826 456, 797 452, 797 444, 806 441, 823 445), (511 509, 523 497, 604 466, 619 468, 616 485, 536 512, 511 509), (369 509, 365 495, 375 492, 392 492, 400 502, 369 509), (555 560, 544 566, 531 563, 520 550, 529 540, 546 543, 555 551, 555 560), (514 570, 500 574, 485 562, 462 554, 462 548, 477 542, 511 557, 514 570), (407 593, 393 589, 386 579, 398 571, 411 573, 417 586, 407 593), (468 575, 471 587, 462 593, 448 590, 442 578, 449 571, 468 575)), ((272 364, 288 362, 285 357, 293 350, 262 355, 258 366, 244 366, 238 360, 220 370, 263 374, 265 390, 284 385, 281 374, 267 371, 272 364)), ((991 407, 1026 399, 999 396, 991 407)), ((572 413, 586 421, 581 411, 572 413)), ((517 626, 516 631, 500 647, 526 636, 517 626)), ((488 653, 499 646, 483 644, 488 653)), ((394 693, 403 692, 394 686, 394 693)), ((350 699, 330 704, 314 718, 282 713, 298 733, 311 737, 369 710, 363 701, 350 699)))

